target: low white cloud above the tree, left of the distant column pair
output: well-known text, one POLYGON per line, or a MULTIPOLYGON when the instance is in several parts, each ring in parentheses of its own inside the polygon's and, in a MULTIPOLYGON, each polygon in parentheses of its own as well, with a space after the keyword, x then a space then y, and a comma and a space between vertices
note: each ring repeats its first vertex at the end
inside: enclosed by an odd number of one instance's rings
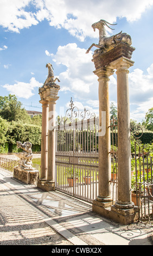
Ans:
POLYGON ((22 97, 24 99, 29 99, 33 96, 35 87, 41 87, 42 83, 35 80, 35 77, 31 77, 29 83, 18 82, 15 84, 5 84, 3 88, 7 89, 9 93, 15 94, 17 97, 22 97))

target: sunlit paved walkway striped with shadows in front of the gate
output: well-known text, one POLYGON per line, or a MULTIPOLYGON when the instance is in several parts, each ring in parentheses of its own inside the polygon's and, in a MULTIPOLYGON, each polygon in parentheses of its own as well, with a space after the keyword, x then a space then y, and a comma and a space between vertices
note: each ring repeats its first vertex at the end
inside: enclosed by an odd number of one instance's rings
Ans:
POLYGON ((60 192, 44 192, 0 169, 0 245, 152 245, 149 224, 120 225, 60 192))

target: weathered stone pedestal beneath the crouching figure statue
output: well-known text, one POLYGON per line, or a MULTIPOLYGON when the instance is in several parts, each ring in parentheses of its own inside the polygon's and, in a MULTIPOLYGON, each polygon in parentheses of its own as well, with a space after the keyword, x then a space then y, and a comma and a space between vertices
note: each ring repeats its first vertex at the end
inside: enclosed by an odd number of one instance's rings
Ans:
POLYGON ((14 167, 14 178, 25 184, 37 184, 37 178, 39 176, 39 170, 21 170, 14 167))

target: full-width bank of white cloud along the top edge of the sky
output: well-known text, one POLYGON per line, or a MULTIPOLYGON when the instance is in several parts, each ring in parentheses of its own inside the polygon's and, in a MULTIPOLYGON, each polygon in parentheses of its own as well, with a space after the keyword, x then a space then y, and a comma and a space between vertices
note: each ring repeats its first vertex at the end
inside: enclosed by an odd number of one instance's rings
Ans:
POLYGON ((0 25, 19 33, 20 29, 47 19, 50 26, 65 28, 84 41, 86 36, 98 36, 98 32, 93 33, 92 23, 100 19, 116 22, 116 17, 135 21, 152 4, 153 0, 1 0, 0 25), (33 5, 33 12, 25 11, 29 4, 33 5))

